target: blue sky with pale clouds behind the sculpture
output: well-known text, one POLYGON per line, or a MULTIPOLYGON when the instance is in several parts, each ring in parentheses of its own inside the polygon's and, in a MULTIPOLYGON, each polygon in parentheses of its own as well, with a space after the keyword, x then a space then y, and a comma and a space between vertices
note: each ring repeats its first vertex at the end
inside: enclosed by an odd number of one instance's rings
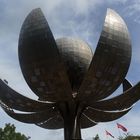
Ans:
MULTIPOLYGON (((0 78, 7 79, 9 86, 21 94, 37 99, 23 79, 17 49, 22 23, 28 13, 38 7, 43 10, 55 38, 81 38, 90 44, 93 51, 106 10, 114 9, 126 22, 132 40, 132 61, 127 79, 132 84, 140 80, 140 0, 0 0, 0 78)), ((121 92, 121 89, 118 90, 118 93, 121 92)), ((20 123, 0 109, 0 127, 9 122, 15 124, 17 131, 31 136, 31 140, 63 139, 63 130, 51 131, 20 123)), ((98 133, 104 140, 106 129, 118 137, 116 122, 126 126, 130 133, 140 134, 140 102, 123 118, 82 130, 82 136, 90 140, 98 133)))

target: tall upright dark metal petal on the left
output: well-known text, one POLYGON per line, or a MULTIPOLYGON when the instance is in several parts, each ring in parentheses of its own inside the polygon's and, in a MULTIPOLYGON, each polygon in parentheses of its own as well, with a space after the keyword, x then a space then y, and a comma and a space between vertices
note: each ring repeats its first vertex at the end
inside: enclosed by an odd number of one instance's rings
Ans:
POLYGON ((19 60, 26 82, 40 100, 72 99, 64 64, 40 9, 33 10, 22 25, 19 60))

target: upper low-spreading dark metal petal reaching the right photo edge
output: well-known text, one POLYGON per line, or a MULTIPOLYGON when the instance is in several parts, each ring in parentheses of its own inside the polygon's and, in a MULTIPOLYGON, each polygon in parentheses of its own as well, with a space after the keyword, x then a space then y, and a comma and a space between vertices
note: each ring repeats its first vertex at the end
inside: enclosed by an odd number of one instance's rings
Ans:
POLYGON ((140 83, 130 88, 123 94, 120 94, 111 99, 91 103, 90 106, 96 107, 100 110, 123 110, 131 107, 140 99, 140 83))

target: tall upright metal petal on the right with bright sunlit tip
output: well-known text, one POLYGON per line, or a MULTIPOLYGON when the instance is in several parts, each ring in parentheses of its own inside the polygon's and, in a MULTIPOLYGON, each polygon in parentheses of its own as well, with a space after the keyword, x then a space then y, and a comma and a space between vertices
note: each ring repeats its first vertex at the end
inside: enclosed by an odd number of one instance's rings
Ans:
POLYGON ((108 9, 91 65, 80 87, 78 100, 100 100, 123 82, 131 60, 129 32, 123 19, 108 9))

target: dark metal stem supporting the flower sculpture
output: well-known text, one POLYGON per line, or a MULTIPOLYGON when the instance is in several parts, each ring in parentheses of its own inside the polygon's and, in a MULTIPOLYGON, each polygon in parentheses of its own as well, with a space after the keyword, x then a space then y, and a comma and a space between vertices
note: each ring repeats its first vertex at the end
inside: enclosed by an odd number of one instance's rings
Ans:
POLYGON ((64 139, 81 140, 80 109, 75 103, 61 103, 59 110, 64 119, 64 139))

